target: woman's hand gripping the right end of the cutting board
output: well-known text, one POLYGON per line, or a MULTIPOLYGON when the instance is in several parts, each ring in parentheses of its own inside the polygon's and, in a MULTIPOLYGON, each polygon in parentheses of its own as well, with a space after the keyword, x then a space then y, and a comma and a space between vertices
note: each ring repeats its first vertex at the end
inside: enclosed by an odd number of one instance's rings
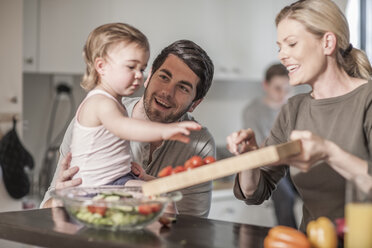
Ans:
POLYGON ((307 172, 319 161, 327 160, 331 142, 311 133, 310 131, 292 131, 291 140, 301 140, 301 154, 289 158, 286 163, 307 172))

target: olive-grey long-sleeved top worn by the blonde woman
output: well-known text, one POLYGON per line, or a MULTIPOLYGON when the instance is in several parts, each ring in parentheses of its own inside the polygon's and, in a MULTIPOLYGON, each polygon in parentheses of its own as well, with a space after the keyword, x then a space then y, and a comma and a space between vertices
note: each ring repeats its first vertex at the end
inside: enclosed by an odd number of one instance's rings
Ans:
MULTIPOLYGON (((265 145, 289 141, 292 130, 309 130, 336 143, 344 151, 366 160, 371 173, 372 81, 339 97, 315 100, 307 93, 290 98, 265 145)), ((263 167, 258 188, 251 197, 244 198, 238 180, 234 193, 247 204, 260 204, 270 197, 286 170, 288 166, 263 167)), ((331 220, 344 216, 345 179, 328 164, 322 162, 307 173, 292 175, 292 180, 304 202, 301 230, 320 216, 331 220)))

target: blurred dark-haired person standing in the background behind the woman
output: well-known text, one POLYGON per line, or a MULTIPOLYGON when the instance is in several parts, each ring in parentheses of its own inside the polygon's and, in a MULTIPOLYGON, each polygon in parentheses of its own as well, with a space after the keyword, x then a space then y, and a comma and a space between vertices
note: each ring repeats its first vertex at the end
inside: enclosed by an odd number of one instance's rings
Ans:
MULTIPOLYGON (((254 99, 243 110, 243 128, 254 131, 259 146, 263 145, 265 138, 269 136, 280 108, 290 92, 288 71, 285 66, 282 64, 269 66, 262 85, 264 96, 254 99)), ((293 212, 295 197, 296 192, 288 173, 280 180, 271 196, 279 225, 297 228, 293 212)))

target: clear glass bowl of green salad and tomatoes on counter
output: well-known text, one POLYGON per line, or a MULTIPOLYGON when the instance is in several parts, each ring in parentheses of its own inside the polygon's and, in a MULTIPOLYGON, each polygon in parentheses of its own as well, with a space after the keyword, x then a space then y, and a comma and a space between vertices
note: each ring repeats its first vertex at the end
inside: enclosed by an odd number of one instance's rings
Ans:
POLYGON ((179 191, 144 196, 141 187, 100 186, 53 190, 68 214, 96 229, 135 230, 159 219, 166 205, 182 198, 179 191))

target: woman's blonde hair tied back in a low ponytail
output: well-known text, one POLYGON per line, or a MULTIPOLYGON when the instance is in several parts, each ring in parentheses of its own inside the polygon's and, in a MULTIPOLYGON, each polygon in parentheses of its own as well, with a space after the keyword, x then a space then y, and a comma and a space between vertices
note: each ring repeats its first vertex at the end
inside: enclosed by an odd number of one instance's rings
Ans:
POLYGON ((336 60, 351 77, 371 79, 372 68, 366 54, 350 44, 347 20, 331 0, 300 0, 283 8, 276 16, 276 26, 286 19, 301 22, 315 36, 332 32, 337 38, 336 60))

